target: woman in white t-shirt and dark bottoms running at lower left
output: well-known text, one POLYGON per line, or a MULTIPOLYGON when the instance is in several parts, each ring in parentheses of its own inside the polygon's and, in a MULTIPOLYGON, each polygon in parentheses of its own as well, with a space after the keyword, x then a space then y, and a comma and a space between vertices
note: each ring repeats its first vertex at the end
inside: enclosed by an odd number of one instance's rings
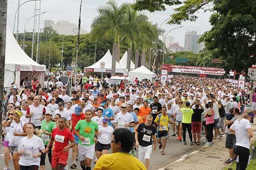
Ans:
POLYGON ((35 125, 28 123, 27 136, 20 140, 17 154, 20 155, 20 170, 38 170, 40 156, 45 154, 45 145, 42 140, 35 135, 35 125))

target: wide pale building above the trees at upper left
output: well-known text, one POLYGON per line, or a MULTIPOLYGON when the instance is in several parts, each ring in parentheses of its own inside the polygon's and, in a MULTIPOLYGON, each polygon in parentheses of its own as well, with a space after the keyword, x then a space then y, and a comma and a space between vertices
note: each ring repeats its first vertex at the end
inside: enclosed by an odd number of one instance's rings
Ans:
MULTIPOLYGON (((51 27, 56 30, 58 34, 62 35, 76 35, 78 26, 66 20, 60 20, 56 23, 52 20, 45 20, 45 27, 51 27)), ((80 28, 80 34, 86 34, 85 29, 80 28)))

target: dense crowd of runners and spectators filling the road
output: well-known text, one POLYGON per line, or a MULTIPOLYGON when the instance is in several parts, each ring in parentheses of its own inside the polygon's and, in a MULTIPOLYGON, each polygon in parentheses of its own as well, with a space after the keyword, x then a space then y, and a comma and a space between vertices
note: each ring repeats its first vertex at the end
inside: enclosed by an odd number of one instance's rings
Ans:
POLYGON ((15 170, 44 170, 46 161, 61 170, 89 170, 92 163, 94 169, 148 169, 153 150, 165 155, 168 138, 181 141, 181 147, 211 146, 224 134, 226 163, 237 159, 239 169, 245 169, 256 113, 255 89, 252 107, 247 106, 249 83, 242 90, 224 79, 190 76, 165 83, 109 82, 108 77, 80 75, 71 95, 60 76, 43 85, 36 78, 23 80, 19 89, 12 84, 2 122, 4 169, 10 169, 10 159, 15 170))

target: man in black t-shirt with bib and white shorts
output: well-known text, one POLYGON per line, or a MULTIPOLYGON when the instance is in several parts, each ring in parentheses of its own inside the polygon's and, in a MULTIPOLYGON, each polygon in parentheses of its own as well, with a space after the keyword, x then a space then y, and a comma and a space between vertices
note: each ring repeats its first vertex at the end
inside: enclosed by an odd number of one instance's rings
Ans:
POLYGON ((153 116, 147 115, 146 122, 141 123, 135 133, 136 147, 139 147, 139 160, 145 160, 146 169, 150 166, 152 153, 152 138, 154 140, 154 151, 157 148, 156 129, 152 125, 153 116))

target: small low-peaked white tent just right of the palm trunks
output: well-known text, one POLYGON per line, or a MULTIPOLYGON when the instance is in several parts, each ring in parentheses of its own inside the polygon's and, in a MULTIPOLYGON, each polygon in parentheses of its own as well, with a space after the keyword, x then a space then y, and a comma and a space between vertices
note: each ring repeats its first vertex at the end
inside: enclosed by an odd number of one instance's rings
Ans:
POLYGON ((137 77, 139 81, 142 79, 150 79, 154 78, 156 74, 151 70, 147 69, 144 65, 132 70, 129 72, 129 77, 137 77))

